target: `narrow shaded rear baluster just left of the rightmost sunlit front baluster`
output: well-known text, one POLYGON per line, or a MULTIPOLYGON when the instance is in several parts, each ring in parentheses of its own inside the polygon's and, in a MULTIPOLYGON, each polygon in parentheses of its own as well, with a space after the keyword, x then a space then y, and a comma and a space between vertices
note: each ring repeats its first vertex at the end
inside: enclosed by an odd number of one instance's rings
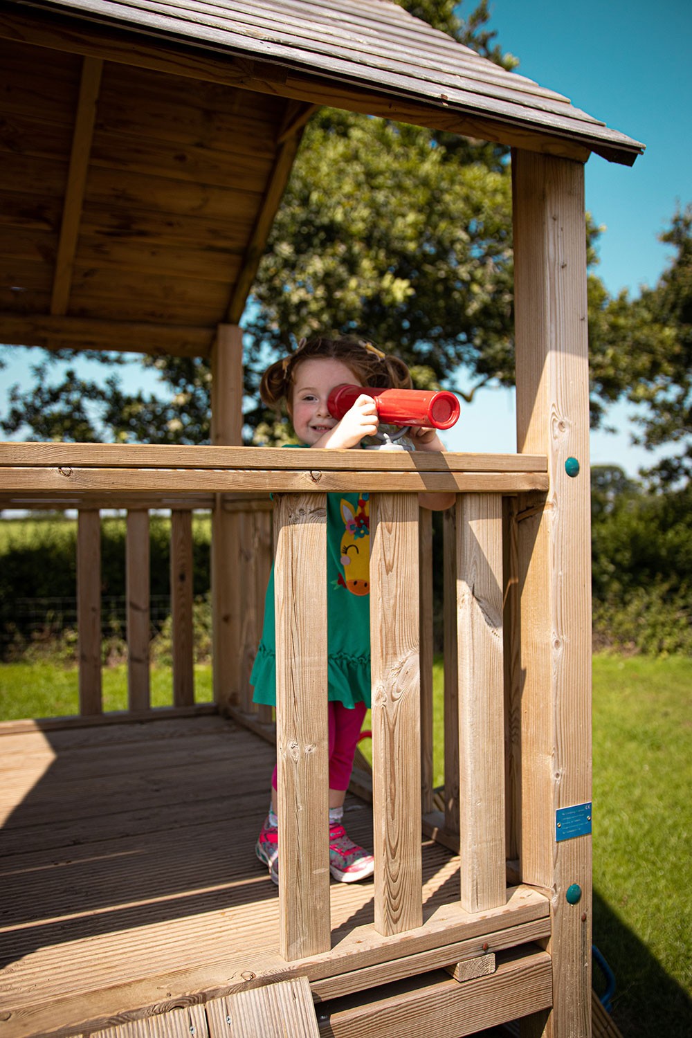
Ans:
MULTIPOLYGON (((459 497, 456 498, 459 502, 459 497)), ((459 507, 459 503, 458 506, 459 507)), ((459 673, 456 660, 456 508, 443 522, 444 827, 459 834, 459 673)))

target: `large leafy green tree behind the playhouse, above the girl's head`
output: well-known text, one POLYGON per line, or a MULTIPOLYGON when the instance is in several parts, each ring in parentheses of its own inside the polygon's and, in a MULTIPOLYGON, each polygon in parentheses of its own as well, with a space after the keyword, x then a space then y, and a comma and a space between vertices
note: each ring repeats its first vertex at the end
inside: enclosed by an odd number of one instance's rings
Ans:
MULTIPOLYGON (((466 21, 452 0, 403 6, 491 60, 516 63, 487 28, 487 0, 466 21)), ((248 307, 255 344, 249 398, 256 400, 273 352, 315 328, 358 330, 395 348, 419 385, 449 379, 460 365, 476 374, 476 386, 492 378, 509 383, 510 230, 506 148, 321 111, 307 129, 248 307)), ((209 438, 206 361, 145 358, 170 394, 162 403, 124 394, 115 376, 99 385, 70 370, 54 384, 51 364, 71 356, 43 354, 34 386, 11 393, 6 433, 28 426, 40 439, 209 438)), ((247 411, 250 427, 267 418, 259 407, 247 411)))

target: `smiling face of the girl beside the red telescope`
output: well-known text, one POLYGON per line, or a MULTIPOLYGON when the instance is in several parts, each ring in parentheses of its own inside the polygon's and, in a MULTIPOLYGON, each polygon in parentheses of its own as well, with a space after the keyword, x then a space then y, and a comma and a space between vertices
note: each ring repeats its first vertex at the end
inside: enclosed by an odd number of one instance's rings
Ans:
POLYGON ((327 400, 332 389, 344 382, 362 385, 351 368, 334 357, 311 357, 298 364, 288 413, 302 443, 312 446, 338 425, 329 413, 327 400))

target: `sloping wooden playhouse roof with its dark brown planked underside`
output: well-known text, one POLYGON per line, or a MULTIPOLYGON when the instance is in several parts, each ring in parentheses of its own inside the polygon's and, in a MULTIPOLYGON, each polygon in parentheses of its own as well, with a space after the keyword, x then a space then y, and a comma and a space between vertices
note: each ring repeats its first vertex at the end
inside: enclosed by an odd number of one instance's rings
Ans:
POLYGON ((585 161, 642 145, 388 0, 0 10, 0 342, 206 355, 321 104, 585 161))

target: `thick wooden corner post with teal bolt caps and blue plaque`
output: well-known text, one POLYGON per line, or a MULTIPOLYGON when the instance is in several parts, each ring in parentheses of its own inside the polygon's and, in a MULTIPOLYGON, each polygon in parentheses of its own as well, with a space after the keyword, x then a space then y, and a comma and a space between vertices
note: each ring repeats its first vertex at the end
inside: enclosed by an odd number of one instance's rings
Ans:
POLYGON ((590 828, 584 170, 578 162, 517 151, 513 176, 518 448, 546 454, 550 476, 547 499, 521 497, 517 515, 523 671, 521 870, 525 882, 550 892, 553 919, 553 1009, 547 1017, 532 1018, 523 1033, 588 1038, 591 840, 588 831, 556 840, 556 813, 561 809, 577 808, 573 817, 585 822, 588 816, 584 828, 590 828))

